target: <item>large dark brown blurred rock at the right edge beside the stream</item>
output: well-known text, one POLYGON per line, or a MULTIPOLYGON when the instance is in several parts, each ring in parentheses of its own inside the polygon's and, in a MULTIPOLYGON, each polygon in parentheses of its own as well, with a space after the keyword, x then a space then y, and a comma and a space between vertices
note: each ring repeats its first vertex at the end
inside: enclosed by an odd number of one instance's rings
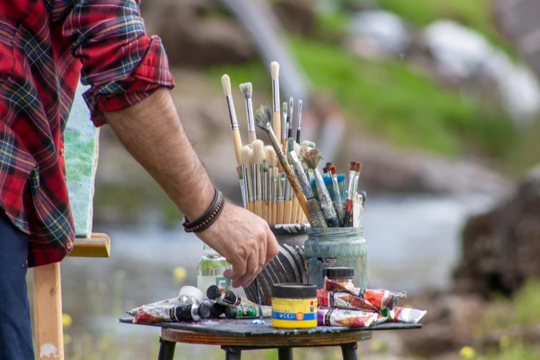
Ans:
POLYGON ((524 280, 539 277, 540 165, 519 182, 509 199, 467 221, 462 248, 454 273, 460 292, 511 295, 524 280))

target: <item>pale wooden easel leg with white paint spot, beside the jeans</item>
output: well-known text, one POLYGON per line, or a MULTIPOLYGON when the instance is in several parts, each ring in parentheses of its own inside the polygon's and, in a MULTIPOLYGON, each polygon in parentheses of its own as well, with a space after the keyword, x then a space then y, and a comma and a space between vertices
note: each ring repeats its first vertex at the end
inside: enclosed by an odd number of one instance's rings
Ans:
POLYGON ((32 271, 36 359, 63 360, 60 263, 38 266, 32 271))

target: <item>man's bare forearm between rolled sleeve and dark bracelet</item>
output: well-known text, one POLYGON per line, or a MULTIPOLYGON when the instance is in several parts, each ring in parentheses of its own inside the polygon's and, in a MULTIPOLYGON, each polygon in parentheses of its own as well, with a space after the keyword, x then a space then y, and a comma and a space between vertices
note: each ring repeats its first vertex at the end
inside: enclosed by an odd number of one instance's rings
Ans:
POLYGON ((212 182, 183 131, 168 89, 105 116, 123 146, 188 219, 208 209, 212 182))

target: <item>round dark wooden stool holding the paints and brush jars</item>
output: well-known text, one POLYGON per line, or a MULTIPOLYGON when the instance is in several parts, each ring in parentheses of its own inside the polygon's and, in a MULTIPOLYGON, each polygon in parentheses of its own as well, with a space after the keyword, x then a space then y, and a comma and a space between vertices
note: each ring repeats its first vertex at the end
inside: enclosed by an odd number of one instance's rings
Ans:
MULTIPOLYGON (((132 323, 133 318, 119 319, 132 323)), ((338 326, 317 326, 312 329, 287 330, 265 325, 252 325, 252 320, 212 320, 199 323, 149 323, 141 325, 161 328, 158 360, 172 360, 176 343, 219 345, 226 360, 239 360, 242 350, 277 349, 279 360, 292 360, 292 348, 341 346, 343 360, 358 360, 357 342, 369 340, 374 330, 421 328, 421 324, 382 323, 370 328, 354 329, 338 326)))

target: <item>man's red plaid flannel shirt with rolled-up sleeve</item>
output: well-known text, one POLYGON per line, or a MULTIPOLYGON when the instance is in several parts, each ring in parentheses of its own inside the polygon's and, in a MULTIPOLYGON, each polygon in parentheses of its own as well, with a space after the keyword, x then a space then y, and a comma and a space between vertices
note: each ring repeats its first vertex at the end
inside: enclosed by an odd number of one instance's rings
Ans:
POLYGON ((139 0, 0 0, 0 207, 30 235, 28 266, 72 248, 63 129, 79 75, 96 126, 174 86, 139 0))

